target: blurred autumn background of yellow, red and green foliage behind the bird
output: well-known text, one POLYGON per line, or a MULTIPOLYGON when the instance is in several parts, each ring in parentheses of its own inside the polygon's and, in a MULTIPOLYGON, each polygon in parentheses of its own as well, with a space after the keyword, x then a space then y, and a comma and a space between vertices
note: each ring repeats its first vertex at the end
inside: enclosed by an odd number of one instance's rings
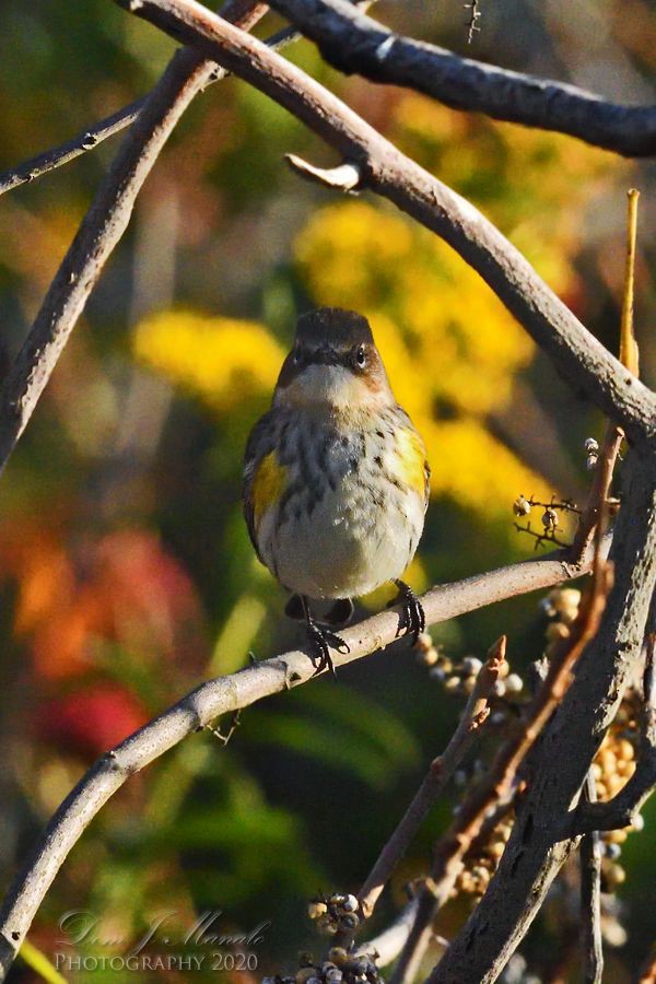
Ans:
MULTIPOLYGON (((648 0, 483 0, 481 12, 468 46, 460 2, 385 0, 375 9, 395 30, 461 54, 653 102, 648 0)), ((174 49, 106 0, 4 0, 2 13, 0 169, 145 93, 174 49)), ((278 26, 269 16, 257 33, 278 26)), ((655 384, 653 165, 344 80, 305 42, 286 54, 475 202, 613 351, 625 191, 640 188, 636 330, 643 377, 655 384)), ((120 139, 0 199, 4 367, 120 139)), ((367 315, 426 441, 432 500, 408 575, 418 590, 531 555, 534 540, 514 526, 520 493, 585 495, 583 444, 601 437, 600 415, 437 238, 372 196, 302 183, 285 152, 335 162, 236 80, 197 98, 0 482, 3 886, 96 755, 200 681, 244 666, 249 652, 266 658, 301 641, 254 557, 239 503, 245 440, 268 406, 298 313, 329 304, 367 315)), ((567 540, 563 523, 558 536, 567 540)), ((386 598, 365 600, 360 616, 386 598)), ((457 661, 481 657, 505 632, 522 673, 546 645, 539 602, 532 595, 438 625, 435 643, 457 661)), ((107 940, 138 940, 163 907, 178 927, 221 911, 219 935, 271 921, 255 948, 258 974, 293 972, 298 950, 324 947, 307 900, 358 890, 462 702, 400 642, 340 670, 337 684, 317 680, 248 708, 226 748, 196 735, 94 820, 31 944, 51 960, 70 910, 99 921, 102 947, 91 938, 63 947, 82 956, 124 952, 107 940)), ((458 795, 424 824, 373 929, 425 871, 458 795)), ((645 820, 622 845, 625 880, 616 879, 620 928, 607 947, 607 980, 618 984, 635 977, 654 938, 656 804, 645 820)), ((462 892, 440 932, 454 934, 472 904, 462 892)), ((535 980, 578 980, 565 909, 562 900, 552 906, 522 948, 535 980), (554 970, 554 952, 564 968, 554 970)), ((99 970, 75 979, 105 975, 116 980, 99 970)), ((194 980, 206 975, 216 976, 209 964, 194 980)), ((24 961, 11 977, 38 979, 24 961)))

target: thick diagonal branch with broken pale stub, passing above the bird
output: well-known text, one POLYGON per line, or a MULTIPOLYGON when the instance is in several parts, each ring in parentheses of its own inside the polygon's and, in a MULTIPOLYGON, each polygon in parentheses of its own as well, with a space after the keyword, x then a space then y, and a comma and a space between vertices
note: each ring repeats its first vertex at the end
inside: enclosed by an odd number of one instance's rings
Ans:
POLYGON ((362 173, 368 187, 437 233, 487 281, 576 390, 640 440, 656 427, 656 397, 590 335, 530 263, 469 202, 401 154, 336 96, 261 42, 195 0, 115 0, 196 43, 286 107, 362 173))

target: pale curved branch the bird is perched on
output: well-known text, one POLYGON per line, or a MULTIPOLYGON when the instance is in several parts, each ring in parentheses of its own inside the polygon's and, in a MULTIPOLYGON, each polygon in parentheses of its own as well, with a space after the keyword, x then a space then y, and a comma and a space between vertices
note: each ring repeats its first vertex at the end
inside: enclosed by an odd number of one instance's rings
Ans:
MULTIPOLYGON (((591 554, 581 572, 589 570, 591 554)), ((546 588, 569 577, 562 551, 441 585, 422 599, 429 624, 446 621, 504 598, 546 588)), ((398 613, 386 610, 343 633, 351 651, 333 653, 344 666, 388 645, 396 637, 398 613)), ((95 815, 126 780, 159 755, 222 714, 246 707, 312 679, 314 667, 302 652, 272 659, 211 680, 165 711, 114 751, 103 755, 82 777, 50 820, 32 857, 17 876, 0 912, 0 979, 7 973, 32 919, 69 851, 95 815)))

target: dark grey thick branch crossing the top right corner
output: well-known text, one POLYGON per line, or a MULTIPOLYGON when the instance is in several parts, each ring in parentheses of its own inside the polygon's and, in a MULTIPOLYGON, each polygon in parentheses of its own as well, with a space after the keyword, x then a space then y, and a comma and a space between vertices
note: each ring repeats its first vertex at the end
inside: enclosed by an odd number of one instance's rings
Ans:
POLYGON ((394 34, 345 0, 272 0, 347 74, 433 96, 454 109, 558 130, 628 157, 656 154, 656 106, 622 106, 574 85, 511 72, 394 34))

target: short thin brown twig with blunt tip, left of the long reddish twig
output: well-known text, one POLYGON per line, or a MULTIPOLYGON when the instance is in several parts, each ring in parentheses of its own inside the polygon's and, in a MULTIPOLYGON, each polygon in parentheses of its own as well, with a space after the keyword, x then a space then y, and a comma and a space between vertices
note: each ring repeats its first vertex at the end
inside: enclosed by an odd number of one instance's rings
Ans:
POLYGON ((488 654, 469 695, 458 727, 444 752, 435 759, 414 794, 410 806, 380 852, 358 895, 362 914, 368 918, 394 869, 408 850, 425 816, 469 751, 490 715, 490 696, 505 659, 506 637, 502 635, 488 654))

